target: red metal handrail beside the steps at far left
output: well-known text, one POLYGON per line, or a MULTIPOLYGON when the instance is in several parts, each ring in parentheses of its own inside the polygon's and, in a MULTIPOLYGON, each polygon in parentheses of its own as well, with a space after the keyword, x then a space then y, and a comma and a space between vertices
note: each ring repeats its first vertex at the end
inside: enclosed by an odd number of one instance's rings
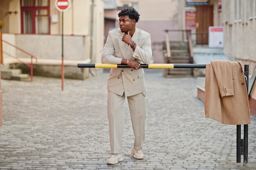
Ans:
POLYGON ((8 45, 10 45, 10 46, 12 46, 12 47, 14 47, 15 49, 17 49, 17 50, 19 50, 19 51, 21 51, 21 52, 23 52, 23 53, 29 55, 29 56, 31 57, 31 62, 30 62, 30 65, 29 65, 29 64, 27 64, 27 63, 25 63, 25 62, 22 62, 18 57, 15 57, 15 56, 13 56, 13 55, 11 55, 11 54, 9 54, 9 53, 6 53, 6 52, 2 51, 2 53, 6 54, 6 55, 9 55, 10 57, 12 57, 12 58, 18 60, 19 62, 21 62, 22 64, 25 64, 25 65, 29 66, 29 67, 30 67, 30 81, 33 82, 33 58, 35 58, 35 59, 36 59, 36 62, 37 62, 37 57, 34 56, 33 54, 31 54, 31 53, 29 53, 29 52, 27 52, 27 51, 25 51, 25 50, 19 48, 19 47, 16 46, 16 45, 13 45, 13 44, 11 44, 11 43, 9 43, 9 42, 7 42, 7 41, 5 41, 5 40, 2 40, 2 39, 0 39, 0 40, 1 40, 2 42, 4 42, 4 43, 6 43, 6 44, 8 44, 8 45))

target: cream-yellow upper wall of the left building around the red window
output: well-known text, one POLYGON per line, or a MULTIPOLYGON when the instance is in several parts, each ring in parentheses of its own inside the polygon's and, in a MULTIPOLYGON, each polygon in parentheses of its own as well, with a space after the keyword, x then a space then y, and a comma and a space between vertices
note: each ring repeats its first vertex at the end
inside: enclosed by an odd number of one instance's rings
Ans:
MULTIPOLYGON (((85 59, 90 57, 90 33, 91 33, 91 4, 92 0, 70 0, 72 7, 64 11, 63 31, 64 35, 84 35, 85 59)), ((104 3, 103 0, 94 0, 94 29, 93 29, 93 58, 92 62, 100 62, 101 51, 104 42, 104 3)), ((50 34, 61 35, 62 12, 55 7, 55 0, 49 2, 50 34), (58 16, 58 22, 52 22, 52 15, 58 16)), ((21 33, 20 0, 9 1, 9 11, 18 11, 9 16, 9 31, 7 33, 21 33)), ((49 35, 40 35, 41 38, 49 35)), ((28 44, 31 42, 28 42, 28 44)), ((33 42, 32 42, 33 43, 33 42)), ((75 56, 74 56, 75 57, 75 56)), ((75 58, 74 58, 75 60, 75 58)))

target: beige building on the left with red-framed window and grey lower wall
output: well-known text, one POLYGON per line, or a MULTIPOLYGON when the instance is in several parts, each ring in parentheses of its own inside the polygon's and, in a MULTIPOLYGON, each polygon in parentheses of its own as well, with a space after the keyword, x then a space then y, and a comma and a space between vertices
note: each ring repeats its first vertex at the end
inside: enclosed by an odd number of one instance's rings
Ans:
MULTIPOLYGON (((88 69, 77 63, 100 62, 104 45, 103 0, 69 0, 70 9, 63 12, 65 78, 85 79, 88 69), (93 8, 92 8, 93 4, 93 8)), ((0 0, 3 40, 35 55, 34 75, 60 77, 62 12, 55 0, 0 0)), ((18 64, 30 56, 3 42, 4 66, 16 64, 22 71, 30 69, 18 64), (6 53, 10 54, 7 55, 6 53)))

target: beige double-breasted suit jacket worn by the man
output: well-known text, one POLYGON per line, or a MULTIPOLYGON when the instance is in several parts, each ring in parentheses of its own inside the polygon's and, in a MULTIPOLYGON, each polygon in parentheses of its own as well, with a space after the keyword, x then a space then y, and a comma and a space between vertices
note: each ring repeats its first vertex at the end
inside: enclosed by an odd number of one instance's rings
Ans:
MULTIPOLYGON (((141 29, 135 29, 132 40, 137 44, 133 51, 128 44, 122 41, 120 29, 109 31, 106 44, 101 55, 101 62, 121 64, 121 60, 130 59, 149 64, 152 58, 150 34, 141 29)), ((132 96, 145 90, 144 70, 132 68, 112 68, 108 78, 108 91, 117 95, 132 96)))

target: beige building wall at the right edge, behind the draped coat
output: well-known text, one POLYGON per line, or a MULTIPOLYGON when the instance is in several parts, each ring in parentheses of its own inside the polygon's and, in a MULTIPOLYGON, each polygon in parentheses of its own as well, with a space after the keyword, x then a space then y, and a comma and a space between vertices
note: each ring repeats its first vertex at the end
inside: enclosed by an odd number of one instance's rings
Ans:
MULTIPOLYGON (((256 0, 222 0, 224 52, 243 64, 256 76, 256 0)), ((251 83, 254 79, 250 79, 251 83)), ((256 116, 256 85, 249 98, 251 114, 256 116)))

